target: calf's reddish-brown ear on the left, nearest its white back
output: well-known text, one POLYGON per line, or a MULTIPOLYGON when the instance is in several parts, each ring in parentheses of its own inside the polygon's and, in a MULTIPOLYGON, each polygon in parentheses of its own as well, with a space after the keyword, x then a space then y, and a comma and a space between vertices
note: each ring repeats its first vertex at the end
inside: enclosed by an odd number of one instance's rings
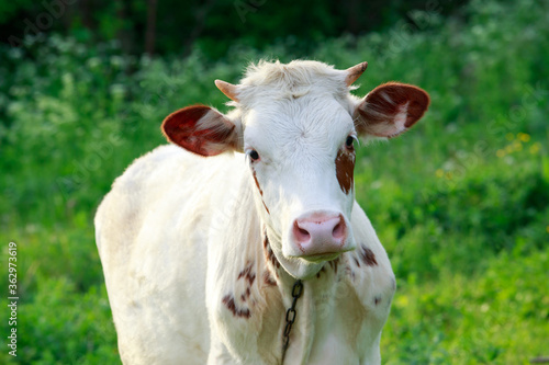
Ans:
POLYGON ((171 113, 164 119, 161 129, 170 142, 200 156, 242 149, 236 125, 206 105, 192 105, 171 113))

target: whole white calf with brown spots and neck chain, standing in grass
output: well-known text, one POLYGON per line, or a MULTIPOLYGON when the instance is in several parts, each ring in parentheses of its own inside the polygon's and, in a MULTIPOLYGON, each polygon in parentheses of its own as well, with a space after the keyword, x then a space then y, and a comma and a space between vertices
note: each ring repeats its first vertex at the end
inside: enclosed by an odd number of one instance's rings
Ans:
POLYGON ((391 138, 419 88, 349 93, 367 64, 259 62, 233 101, 170 114, 171 146, 101 203, 97 244, 124 364, 379 364, 395 280, 355 201, 356 140, 391 138))

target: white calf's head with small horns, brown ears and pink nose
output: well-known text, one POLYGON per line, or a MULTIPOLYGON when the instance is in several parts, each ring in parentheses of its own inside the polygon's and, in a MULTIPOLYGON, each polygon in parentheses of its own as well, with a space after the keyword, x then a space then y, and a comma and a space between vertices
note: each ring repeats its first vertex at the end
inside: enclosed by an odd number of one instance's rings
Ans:
POLYGON ((366 66, 260 62, 239 84, 215 81, 233 100, 228 114, 194 105, 164 121, 167 138, 189 151, 245 155, 272 251, 294 277, 313 276, 356 246, 350 214, 357 140, 395 137, 429 104, 425 91, 396 82, 363 99, 351 95, 366 66))

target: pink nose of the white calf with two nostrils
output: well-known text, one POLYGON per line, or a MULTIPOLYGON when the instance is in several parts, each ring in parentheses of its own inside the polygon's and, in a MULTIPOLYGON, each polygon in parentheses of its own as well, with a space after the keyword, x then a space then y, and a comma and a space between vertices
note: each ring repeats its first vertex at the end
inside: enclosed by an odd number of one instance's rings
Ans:
POLYGON ((305 256, 338 253, 347 239, 347 226, 340 214, 313 213, 295 219, 293 238, 305 256))

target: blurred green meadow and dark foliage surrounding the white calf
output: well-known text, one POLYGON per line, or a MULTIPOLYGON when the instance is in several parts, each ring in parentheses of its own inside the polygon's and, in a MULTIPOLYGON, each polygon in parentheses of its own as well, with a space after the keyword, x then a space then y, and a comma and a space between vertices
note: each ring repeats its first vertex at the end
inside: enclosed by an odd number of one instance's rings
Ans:
POLYGON ((397 276, 385 364, 549 356, 548 1, 105 1, 0 4, 0 265, 18 243, 18 357, 116 364, 92 218, 114 178, 215 79, 250 61, 367 60, 427 115, 362 147, 357 198, 397 276))

